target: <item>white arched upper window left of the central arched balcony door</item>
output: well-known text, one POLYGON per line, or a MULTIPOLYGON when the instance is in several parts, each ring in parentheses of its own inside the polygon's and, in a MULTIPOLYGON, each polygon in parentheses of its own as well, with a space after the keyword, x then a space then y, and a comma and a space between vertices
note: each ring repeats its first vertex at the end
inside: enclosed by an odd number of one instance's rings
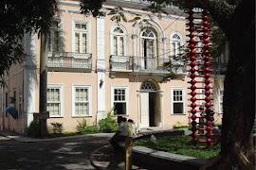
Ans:
POLYGON ((117 26, 112 32, 112 55, 125 56, 126 34, 124 28, 117 26))

